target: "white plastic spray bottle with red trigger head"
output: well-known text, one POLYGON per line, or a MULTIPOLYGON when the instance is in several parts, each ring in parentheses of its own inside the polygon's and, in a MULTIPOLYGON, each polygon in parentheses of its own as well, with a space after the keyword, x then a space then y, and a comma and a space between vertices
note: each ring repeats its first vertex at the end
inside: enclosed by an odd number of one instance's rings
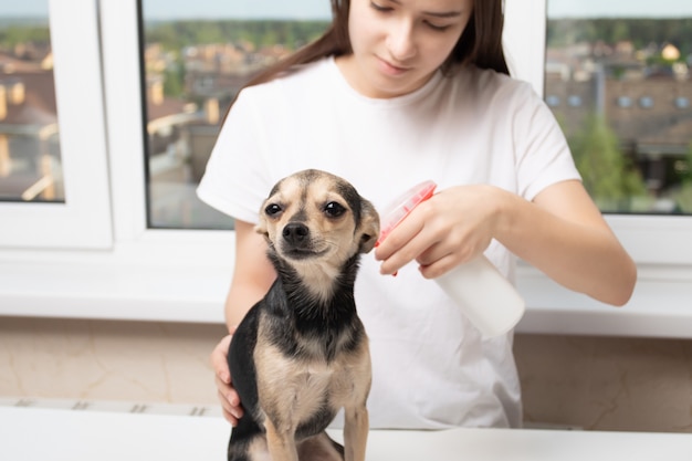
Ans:
MULTIPOLYGON (((381 214, 379 240, 385 240, 413 208, 432 197, 436 187, 432 181, 421 182, 391 203, 381 214)), ((483 255, 458 265, 434 281, 485 337, 507 333, 524 315, 522 296, 483 255)))

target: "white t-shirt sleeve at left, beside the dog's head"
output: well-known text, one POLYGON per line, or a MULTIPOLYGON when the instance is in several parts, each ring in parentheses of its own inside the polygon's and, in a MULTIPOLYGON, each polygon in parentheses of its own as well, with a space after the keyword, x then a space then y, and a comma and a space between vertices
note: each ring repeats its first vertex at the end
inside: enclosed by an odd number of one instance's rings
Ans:
POLYGON ((254 223, 272 184, 262 155, 266 134, 252 90, 243 90, 229 112, 197 196, 226 214, 254 223))

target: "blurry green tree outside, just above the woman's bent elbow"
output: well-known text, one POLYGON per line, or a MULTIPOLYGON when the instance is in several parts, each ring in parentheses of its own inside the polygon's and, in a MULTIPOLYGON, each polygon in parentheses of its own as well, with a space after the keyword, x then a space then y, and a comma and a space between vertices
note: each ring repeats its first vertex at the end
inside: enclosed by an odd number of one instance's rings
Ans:
POLYGON ((589 115, 569 146, 584 186, 601 209, 628 210, 632 197, 647 195, 640 174, 622 155, 615 132, 602 116, 589 115))

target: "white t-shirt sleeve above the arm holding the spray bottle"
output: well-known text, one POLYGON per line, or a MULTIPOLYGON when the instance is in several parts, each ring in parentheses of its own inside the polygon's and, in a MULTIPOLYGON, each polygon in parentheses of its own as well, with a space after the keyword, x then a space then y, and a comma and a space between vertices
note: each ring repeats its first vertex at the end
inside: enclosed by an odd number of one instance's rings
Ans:
POLYGON ((533 200, 566 180, 581 180, 555 116, 528 84, 523 84, 513 123, 518 193, 533 200))

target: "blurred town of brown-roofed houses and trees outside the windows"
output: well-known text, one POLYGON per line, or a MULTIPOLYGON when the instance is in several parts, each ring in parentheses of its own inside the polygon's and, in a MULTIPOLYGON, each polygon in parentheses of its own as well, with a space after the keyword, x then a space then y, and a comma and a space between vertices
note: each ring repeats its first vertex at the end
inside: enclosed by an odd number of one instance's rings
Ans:
MULTIPOLYGON (((604 211, 692 213, 692 20, 641 21, 548 21, 545 101, 604 211)), ((326 25, 145 21, 150 226, 232 226, 195 196, 224 113, 249 78, 326 25)), ((0 29, 0 200, 60 201, 48 30, 27 27, 0 29)))

